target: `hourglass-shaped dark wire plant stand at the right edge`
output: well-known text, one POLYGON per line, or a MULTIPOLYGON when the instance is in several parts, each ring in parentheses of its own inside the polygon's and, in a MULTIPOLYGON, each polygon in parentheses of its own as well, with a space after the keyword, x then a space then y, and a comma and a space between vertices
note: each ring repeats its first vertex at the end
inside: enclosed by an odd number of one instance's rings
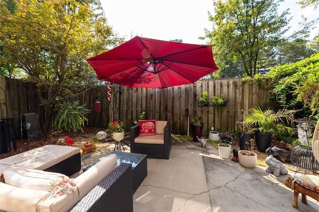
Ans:
POLYGON ((319 170, 319 163, 314 156, 313 149, 310 144, 310 138, 315 129, 315 121, 311 119, 296 119, 295 122, 298 123, 298 127, 301 127, 306 133, 307 143, 295 146, 292 149, 290 156, 291 162, 297 166, 297 169, 299 167, 303 168, 305 170, 305 174, 307 174, 308 170, 311 170, 314 174, 316 174, 319 170))

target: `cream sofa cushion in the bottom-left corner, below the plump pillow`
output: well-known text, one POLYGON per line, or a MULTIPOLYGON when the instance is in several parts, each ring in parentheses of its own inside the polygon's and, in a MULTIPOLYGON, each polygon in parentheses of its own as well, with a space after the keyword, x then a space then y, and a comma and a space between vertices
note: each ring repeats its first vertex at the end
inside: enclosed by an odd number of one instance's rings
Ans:
POLYGON ((47 191, 18 188, 0 183, 0 211, 36 212, 36 204, 47 191))

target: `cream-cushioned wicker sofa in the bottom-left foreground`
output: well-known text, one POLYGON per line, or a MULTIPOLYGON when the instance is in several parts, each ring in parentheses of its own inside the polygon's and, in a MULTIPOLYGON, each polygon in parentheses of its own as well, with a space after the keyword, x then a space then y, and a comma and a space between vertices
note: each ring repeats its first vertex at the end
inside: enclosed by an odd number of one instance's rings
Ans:
POLYGON ((0 170, 0 211, 133 211, 132 165, 117 166, 114 154, 74 179, 13 165, 0 170))

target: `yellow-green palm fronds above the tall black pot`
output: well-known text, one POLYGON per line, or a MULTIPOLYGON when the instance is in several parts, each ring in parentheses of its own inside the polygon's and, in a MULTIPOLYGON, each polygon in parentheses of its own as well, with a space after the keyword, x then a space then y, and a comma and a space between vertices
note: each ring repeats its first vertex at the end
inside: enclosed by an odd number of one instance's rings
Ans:
POLYGON ((271 109, 262 110, 259 106, 251 108, 243 114, 244 125, 249 128, 259 129, 262 133, 288 133, 290 135, 296 133, 296 129, 286 126, 294 120, 296 110, 279 110, 274 112, 271 109))

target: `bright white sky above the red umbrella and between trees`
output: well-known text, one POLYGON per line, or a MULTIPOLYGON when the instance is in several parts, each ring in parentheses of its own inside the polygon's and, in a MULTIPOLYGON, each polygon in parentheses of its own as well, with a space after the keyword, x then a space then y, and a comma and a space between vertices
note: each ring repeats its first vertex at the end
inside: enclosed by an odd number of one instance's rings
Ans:
MULTIPOLYGON (((208 11, 213 0, 101 0, 109 25, 127 40, 136 35, 159 40, 182 39, 184 43, 205 44, 199 40, 204 28, 211 29, 208 11), (131 36, 132 34, 132 36, 131 36)), ((291 8, 292 29, 298 29, 302 14, 312 20, 319 10, 301 9, 296 0, 285 0, 279 10, 291 8)), ((316 28, 312 37, 319 31, 316 28)))

